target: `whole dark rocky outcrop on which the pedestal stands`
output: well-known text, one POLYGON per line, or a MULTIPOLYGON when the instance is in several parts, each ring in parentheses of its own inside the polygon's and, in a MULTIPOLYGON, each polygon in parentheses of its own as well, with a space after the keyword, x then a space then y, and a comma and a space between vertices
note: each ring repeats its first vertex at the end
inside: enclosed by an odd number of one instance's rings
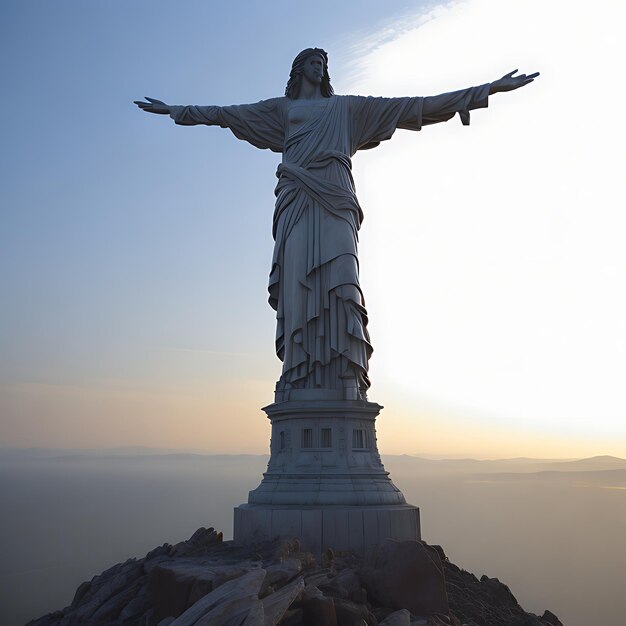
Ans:
POLYGON ((480 580, 438 546, 386 541, 362 557, 298 540, 254 547, 213 528, 115 565, 70 606, 29 626, 563 626, 526 613, 497 578, 480 580))

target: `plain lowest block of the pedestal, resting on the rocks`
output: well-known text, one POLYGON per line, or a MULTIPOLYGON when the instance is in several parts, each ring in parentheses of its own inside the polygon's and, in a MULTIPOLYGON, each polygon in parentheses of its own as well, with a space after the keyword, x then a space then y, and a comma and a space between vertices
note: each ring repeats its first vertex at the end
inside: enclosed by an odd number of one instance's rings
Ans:
POLYGON ((241 504, 235 509, 235 543, 250 545, 298 537, 314 554, 326 549, 364 552, 385 539, 419 540, 419 509, 389 506, 241 504))

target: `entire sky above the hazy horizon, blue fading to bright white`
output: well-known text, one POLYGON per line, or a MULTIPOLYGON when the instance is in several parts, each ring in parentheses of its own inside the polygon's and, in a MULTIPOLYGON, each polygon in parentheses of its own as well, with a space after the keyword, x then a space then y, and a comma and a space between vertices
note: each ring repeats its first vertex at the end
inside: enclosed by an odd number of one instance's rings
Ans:
POLYGON ((279 155, 139 111, 533 84, 356 155, 385 453, 626 456, 618 0, 0 3, 0 447, 265 452, 279 155))

